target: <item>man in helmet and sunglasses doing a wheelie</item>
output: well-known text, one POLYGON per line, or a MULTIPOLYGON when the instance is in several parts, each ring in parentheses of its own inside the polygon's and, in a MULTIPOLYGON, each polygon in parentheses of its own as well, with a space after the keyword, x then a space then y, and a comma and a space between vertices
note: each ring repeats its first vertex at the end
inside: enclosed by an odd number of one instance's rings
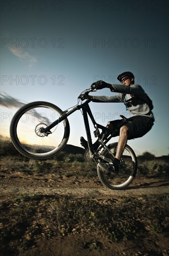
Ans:
MULTIPOLYGON (((103 89, 109 88, 111 92, 119 93, 114 96, 89 96, 93 102, 123 102, 126 110, 129 111, 131 117, 128 119, 109 121, 106 128, 110 130, 109 134, 115 132, 116 136, 119 136, 118 148, 113 163, 98 163, 98 166, 103 172, 113 171, 118 173, 119 161, 127 140, 135 139, 145 135, 154 124, 154 115, 152 113, 152 102, 144 89, 134 83, 134 75, 127 71, 119 74, 117 78, 121 84, 109 84, 104 81, 97 81, 92 85, 95 88, 103 89)), ((87 141, 81 137, 81 145, 87 149, 87 141)), ((94 149, 100 145, 97 140, 94 143, 94 149)))

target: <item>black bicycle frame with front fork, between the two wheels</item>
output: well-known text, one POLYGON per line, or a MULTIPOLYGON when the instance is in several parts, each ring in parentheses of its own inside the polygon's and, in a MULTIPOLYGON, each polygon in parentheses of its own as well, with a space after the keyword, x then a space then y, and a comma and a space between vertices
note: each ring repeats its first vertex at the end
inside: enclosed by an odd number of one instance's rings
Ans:
MULTIPOLYGON (((89 151, 94 154, 94 148, 93 148, 93 144, 92 144, 92 137, 91 137, 91 132, 90 132, 90 127, 89 127, 89 121, 88 121, 88 116, 90 117, 94 128, 96 129, 96 133, 97 133, 97 137, 99 138, 100 144, 106 148, 108 151, 110 151, 107 146, 106 143, 108 141, 110 141, 110 139, 113 137, 113 134, 110 135, 108 138, 106 138, 105 142, 103 142, 103 137, 106 134, 106 132, 110 131, 108 128, 96 123, 96 121, 94 120, 94 116, 91 112, 91 109, 88 105, 90 101, 85 101, 84 103, 77 105, 76 107, 72 108, 70 111, 66 110, 63 111, 63 114, 53 123, 51 123, 48 127, 43 128, 43 133, 47 133, 50 131, 51 128, 55 127, 58 123, 60 123, 61 121, 63 121, 64 119, 66 119, 69 115, 73 114, 76 110, 80 110, 82 109, 82 113, 83 113, 83 119, 84 119, 84 124, 85 124, 85 129, 86 129, 86 134, 87 134, 87 138, 88 138, 88 148, 89 151), (101 138, 100 136, 100 132, 99 132, 99 128, 102 130, 103 132, 103 137, 101 138)), ((110 151, 110 154, 112 154, 112 152, 110 151)), ((113 155, 114 157, 114 155, 113 155)))

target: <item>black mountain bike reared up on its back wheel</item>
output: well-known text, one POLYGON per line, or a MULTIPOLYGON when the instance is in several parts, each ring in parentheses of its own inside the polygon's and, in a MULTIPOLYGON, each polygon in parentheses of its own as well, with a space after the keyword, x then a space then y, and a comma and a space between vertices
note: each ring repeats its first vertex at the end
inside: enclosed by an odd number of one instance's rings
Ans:
MULTIPOLYGON (((118 142, 107 144, 114 133, 106 136, 108 129, 94 120, 89 108, 89 93, 96 91, 92 86, 78 96, 78 103, 65 111, 56 105, 35 101, 21 107, 10 124, 10 136, 14 147, 23 155, 35 159, 48 159, 57 155, 67 144, 70 134, 68 116, 81 110, 86 128, 88 148, 85 160, 97 165, 100 181, 108 189, 125 189, 131 184, 137 173, 137 157, 128 145, 125 146, 120 159, 119 173, 104 173, 98 167, 99 162, 113 162, 118 142), (94 125, 94 136, 99 139, 100 146, 94 149, 88 117, 94 125)), ((121 116, 125 118, 124 116, 121 116)), ((126 121, 126 118, 125 118, 126 121)))

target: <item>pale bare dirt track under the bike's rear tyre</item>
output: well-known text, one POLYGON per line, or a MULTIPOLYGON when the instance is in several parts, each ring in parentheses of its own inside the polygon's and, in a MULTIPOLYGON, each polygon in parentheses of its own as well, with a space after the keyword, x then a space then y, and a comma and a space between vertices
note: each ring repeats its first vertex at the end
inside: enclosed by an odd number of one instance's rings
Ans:
POLYGON ((24 175, 23 173, 1 173, 0 196, 13 194, 40 193, 44 195, 72 195, 75 197, 94 196, 138 196, 143 194, 169 193, 169 179, 136 177, 125 190, 106 189, 98 178, 82 178, 69 175, 24 175))

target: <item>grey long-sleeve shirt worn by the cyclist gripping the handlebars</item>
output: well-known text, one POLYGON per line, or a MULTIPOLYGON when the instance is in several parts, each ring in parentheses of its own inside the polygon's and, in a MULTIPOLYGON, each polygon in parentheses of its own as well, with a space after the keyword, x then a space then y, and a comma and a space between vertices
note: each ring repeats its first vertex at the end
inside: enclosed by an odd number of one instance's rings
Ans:
POLYGON ((112 84, 112 88, 110 89, 114 93, 119 93, 114 96, 92 96, 92 101, 94 102, 123 102, 131 116, 135 115, 146 115, 151 118, 154 118, 153 113, 150 111, 150 108, 146 101, 146 95, 144 89, 138 85, 133 84, 131 86, 126 86, 122 84, 112 84), (125 101, 130 100, 128 102, 124 101, 123 94, 125 95, 125 101), (133 96, 138 96, 138 98, 133 98, 133 96), (143 99, 143 100, 142 100, 143 99))

